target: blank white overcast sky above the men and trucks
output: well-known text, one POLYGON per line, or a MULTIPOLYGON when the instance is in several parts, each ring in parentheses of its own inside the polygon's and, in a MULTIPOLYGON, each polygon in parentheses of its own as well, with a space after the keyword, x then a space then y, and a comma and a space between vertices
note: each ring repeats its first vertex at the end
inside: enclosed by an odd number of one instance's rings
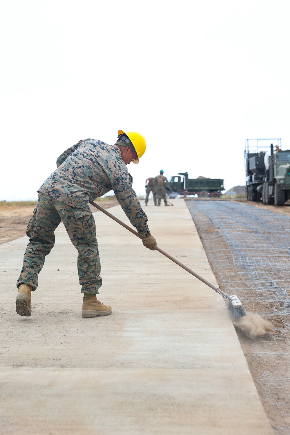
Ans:
POLYGON ((61 152, 138 131, 160 169, 244 184, 244 140, 290 148, 287 0, 10 0, 0 9, 0 200, 37 198, 61 152))

